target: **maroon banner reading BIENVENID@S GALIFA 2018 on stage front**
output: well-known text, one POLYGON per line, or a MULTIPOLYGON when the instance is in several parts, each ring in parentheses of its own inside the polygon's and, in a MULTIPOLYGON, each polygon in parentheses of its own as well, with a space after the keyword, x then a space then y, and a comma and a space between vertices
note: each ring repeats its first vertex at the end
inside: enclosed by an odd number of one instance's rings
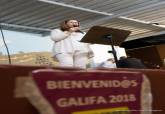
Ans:
POLYGON ((42 114, 141 114, 143 74, 36 70, 25 96, 42 114))

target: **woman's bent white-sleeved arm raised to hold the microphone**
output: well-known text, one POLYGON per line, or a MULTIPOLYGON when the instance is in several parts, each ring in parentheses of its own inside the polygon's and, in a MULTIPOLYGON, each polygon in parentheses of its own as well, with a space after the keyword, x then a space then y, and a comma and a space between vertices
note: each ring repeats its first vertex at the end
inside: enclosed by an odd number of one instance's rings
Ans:
POLYGON ((55 42, 58 42, 60 40, 64 40, 70 35, 70 32, 68 31, 61 31, 59 29, 55 29, 51 32, 51 39, 55 42))

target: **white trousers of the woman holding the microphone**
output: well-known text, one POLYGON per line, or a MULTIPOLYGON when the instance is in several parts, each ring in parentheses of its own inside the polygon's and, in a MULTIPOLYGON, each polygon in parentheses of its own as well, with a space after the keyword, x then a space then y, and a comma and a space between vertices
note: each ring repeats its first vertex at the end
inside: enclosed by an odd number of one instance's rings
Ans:
POLYGON ((88 57, 86 53, 61 53, 56 55, 60 66, 86 68, 88 57))

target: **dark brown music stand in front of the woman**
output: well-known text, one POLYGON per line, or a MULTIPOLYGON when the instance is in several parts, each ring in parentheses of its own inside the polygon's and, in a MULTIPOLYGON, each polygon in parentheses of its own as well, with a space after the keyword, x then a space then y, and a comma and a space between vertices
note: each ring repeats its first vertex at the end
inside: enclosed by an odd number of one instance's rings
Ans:
POLYGON ((117 63, 117 55, 114 49, 115 46, 120 46, 122 42, 128 37, 131 31, 107 28, 102 26, 93 26, 86 35, 81 39, 81 42, 92 43, 92 44, 103 44, 103 45, 111 45, 112 51, 108 51, 112 53, 117 63))

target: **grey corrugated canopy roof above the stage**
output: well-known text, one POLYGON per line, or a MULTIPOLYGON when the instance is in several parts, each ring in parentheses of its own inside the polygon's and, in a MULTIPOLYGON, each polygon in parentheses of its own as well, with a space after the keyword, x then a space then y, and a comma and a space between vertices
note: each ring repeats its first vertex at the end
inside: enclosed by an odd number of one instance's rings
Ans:
POLYGON ((4 29, 49 34, 74 18, 87 31, 94 25, 132 31, 127 40, 165 34, 164 0, 0 0, 4 29))

